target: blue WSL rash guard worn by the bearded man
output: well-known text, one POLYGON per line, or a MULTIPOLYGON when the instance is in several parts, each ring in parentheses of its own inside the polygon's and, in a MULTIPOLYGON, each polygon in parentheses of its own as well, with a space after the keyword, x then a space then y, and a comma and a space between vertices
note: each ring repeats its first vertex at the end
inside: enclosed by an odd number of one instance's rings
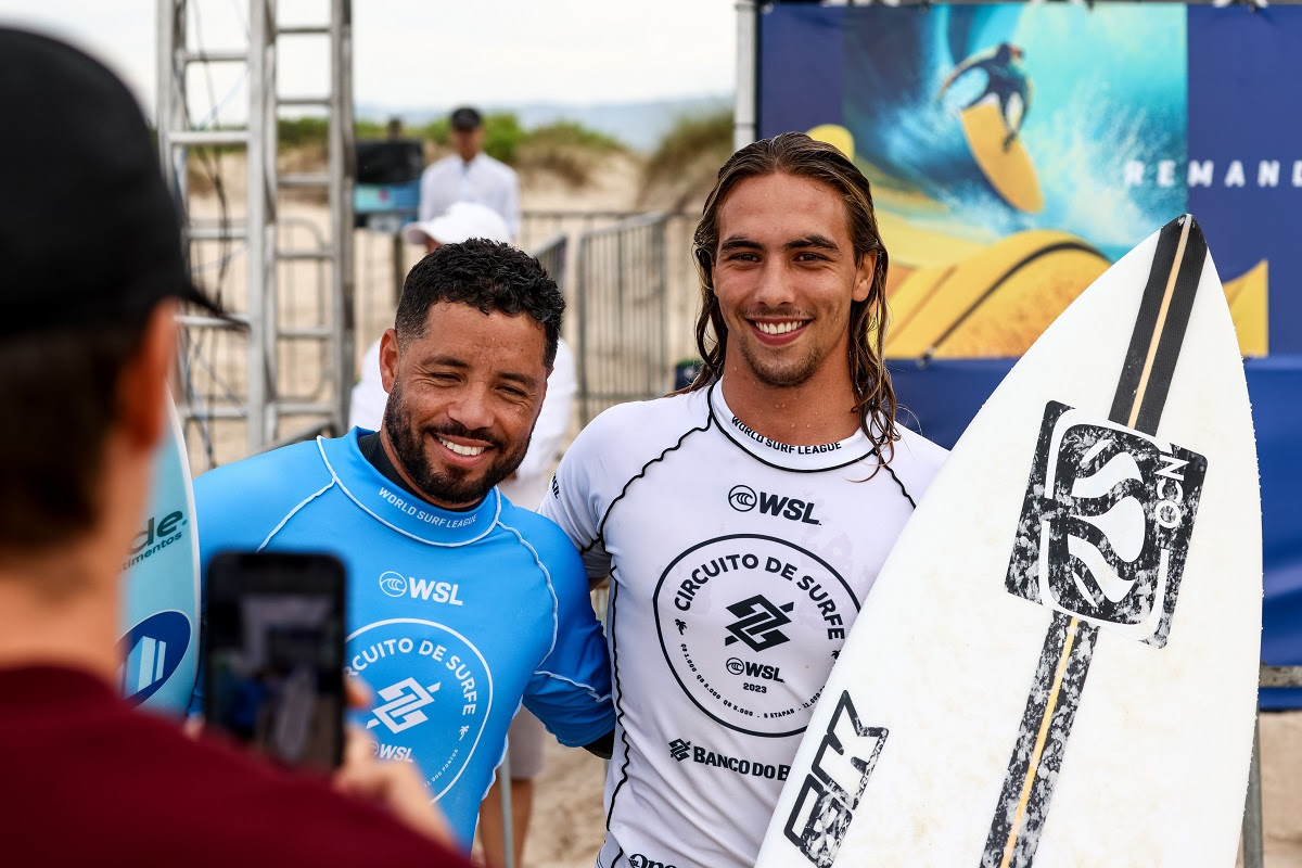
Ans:
POLYGON ((432 506, 366 459, 365 433, 197 479, 201 562, 228 549, 344 561, 346 669, 375 694, 359 722, 381 757, 419 766, 469 850, 522 700, 561 744, 615 727, 605 642, 559 527, 496 488, 470 510, 432 506))

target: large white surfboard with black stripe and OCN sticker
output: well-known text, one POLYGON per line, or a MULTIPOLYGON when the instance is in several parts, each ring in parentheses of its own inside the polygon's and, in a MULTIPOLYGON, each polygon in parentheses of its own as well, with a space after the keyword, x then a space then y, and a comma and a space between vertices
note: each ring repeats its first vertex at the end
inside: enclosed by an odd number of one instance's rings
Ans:
POLYGON ((756 864, 1233 865, 1260 616, 1247 387, 1186 215, 1096 280, 956 444, 756 864))

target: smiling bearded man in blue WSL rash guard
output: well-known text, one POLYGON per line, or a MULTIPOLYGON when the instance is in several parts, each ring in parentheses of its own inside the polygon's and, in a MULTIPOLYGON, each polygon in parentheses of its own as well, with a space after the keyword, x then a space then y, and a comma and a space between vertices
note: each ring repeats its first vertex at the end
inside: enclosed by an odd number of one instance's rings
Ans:
POLYGON ((348 566, 348 671, 362 724, 419 768, 469 848, 521 701, 609 756, 609 661, 587 575, 552 522, 496 489, 519 465, 565 302, 503 243, 445 245, 408 275, 380 370, 379 432, 301 442, 195 481, 202 561, 324 550, 348 566))

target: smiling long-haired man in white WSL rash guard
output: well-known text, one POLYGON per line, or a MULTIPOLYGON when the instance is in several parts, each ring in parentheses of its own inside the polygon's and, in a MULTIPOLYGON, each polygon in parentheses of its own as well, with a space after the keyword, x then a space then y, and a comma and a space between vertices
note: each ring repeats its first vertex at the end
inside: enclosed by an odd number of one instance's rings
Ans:
POLYGON ((887 251, 840 151, 788 133, 734 154, 695 255, 700 375, 592 420, 543 505, 590 579, 612 582, 600 868, 754 864, 846 632, 945 457, 894 422, 887 251))

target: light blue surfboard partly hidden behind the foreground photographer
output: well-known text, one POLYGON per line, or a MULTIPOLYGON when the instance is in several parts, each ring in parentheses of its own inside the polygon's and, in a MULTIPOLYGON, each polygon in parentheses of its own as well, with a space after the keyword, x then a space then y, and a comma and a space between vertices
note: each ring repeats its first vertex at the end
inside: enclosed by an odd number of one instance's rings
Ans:
POLYGON ((122 565, 118 671, 128 703, 180 717, 198 673, 199 544, 190 462, 171 400, 168 419, 148 506, 122 565))

